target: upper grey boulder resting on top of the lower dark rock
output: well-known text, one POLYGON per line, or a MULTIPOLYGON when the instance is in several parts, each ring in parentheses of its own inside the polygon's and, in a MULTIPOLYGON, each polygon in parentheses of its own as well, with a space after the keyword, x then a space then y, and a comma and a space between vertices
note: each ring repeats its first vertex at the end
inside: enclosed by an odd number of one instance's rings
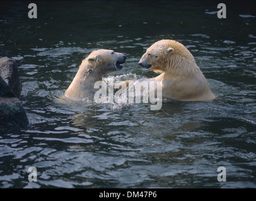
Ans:
POLYGON ((18 75, 16 60, 13 58, 0 58, 0 76, 11 87, 16 97, 20 97, 22 85, 18 75))

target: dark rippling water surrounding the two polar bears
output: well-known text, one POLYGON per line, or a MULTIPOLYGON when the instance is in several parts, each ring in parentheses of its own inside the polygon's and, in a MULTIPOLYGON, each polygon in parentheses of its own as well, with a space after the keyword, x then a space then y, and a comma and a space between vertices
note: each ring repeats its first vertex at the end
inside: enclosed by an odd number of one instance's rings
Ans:
MULTIPOLYGON (((0 136, 1 188, 255 188, 256 13, 250 2, 1 3, 0 57, 15 58, 30 128, 0 136), (137 62, 155 41, 180 41, 217 99, 86 104, 60 99, 95 49, 127 55, 108 76, 154 77, 137 62), (37 182, 28 182, 28 168, 37 182), (218 182, 219 166, 226 182, 218 182)), ((107 78, 106 78, 107 79, 107 78)))

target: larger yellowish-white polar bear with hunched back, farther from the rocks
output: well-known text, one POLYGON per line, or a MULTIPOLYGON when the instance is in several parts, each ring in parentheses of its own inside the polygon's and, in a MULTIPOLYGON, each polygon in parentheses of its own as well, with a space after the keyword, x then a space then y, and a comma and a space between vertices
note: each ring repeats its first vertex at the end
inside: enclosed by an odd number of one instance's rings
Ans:
POLYGON ((208 101, 215 98, 192 54, 175 40, 154 43, 141 57, 139 65, 154 72, 163 72, 149 79, 161 82, 163 98, 180 101, 208 101))

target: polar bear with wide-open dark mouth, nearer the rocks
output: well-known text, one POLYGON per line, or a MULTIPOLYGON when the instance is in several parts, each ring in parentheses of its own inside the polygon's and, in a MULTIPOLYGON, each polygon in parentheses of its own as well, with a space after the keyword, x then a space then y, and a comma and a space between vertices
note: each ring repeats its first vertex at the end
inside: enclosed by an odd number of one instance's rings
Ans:
POLYGON ((103 75, 122 69, 127 57, 113 50, 95 50, 83 60, 76 76, 64 93, 67 99, 90 99, 95 94, 95 82, 102 80, 103 75))

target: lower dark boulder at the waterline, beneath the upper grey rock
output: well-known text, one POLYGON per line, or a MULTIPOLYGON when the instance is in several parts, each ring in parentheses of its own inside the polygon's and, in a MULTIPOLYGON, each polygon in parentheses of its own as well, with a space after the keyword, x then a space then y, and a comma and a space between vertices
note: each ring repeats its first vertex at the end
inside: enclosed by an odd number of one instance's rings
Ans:
POLYGON ((27 127, 28 118, 20 99, 0 97, 0 134, 11 133, 27 127))

